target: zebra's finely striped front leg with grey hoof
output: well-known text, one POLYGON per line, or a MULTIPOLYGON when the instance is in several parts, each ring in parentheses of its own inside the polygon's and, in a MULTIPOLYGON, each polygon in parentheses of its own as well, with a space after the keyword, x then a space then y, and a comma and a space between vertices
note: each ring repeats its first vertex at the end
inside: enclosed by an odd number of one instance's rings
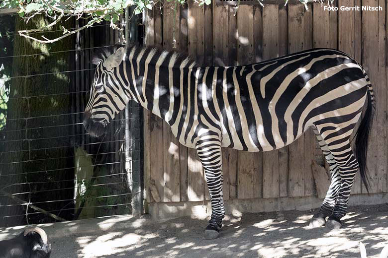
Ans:
POLYGON ((221 140, 216 136, 207 136, 198 140, 196 151, 205 172, 207 188, 211 199, 211 218, 205 229, 205 239, 215 239, 219 236, 225 207, 222 195, 222 155, 221 140))

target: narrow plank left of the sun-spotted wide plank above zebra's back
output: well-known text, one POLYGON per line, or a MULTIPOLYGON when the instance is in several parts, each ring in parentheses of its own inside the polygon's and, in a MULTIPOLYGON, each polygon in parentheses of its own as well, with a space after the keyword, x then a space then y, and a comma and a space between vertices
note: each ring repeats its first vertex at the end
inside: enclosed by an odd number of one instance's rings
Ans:
MULTIPOLYGON (((236 8, 229 5, 228 14, 228 62, 226 65, 237 64, 237 16, 236 8)), ((229 198, 237 198, 237 150, 228 149, 228 168, 229 168, 229 198)))

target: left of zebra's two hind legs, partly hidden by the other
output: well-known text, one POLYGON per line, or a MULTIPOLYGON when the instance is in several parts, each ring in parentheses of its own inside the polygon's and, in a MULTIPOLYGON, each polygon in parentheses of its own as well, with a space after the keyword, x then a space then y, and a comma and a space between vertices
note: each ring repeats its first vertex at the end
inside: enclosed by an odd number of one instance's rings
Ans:
POLYGON ((310 227, 321 227, 326 224, 326 218, 331 216, 331 214, 333 213, 334 206, 341 187, 341 174, 339 172, 337 162, 331 154, 330 149, 327 146, 325 140, 316 128, 313 128, 312 130, 315 133, 315 136, 318 140, 318 144, 323 152, 323 155, 325 156, 327 163, 329 164, 331 173, 331 184, 329 190, 327 191, 326 197, 323 200, 319 211, 314 214, 314 216, 310 220, 310 227))

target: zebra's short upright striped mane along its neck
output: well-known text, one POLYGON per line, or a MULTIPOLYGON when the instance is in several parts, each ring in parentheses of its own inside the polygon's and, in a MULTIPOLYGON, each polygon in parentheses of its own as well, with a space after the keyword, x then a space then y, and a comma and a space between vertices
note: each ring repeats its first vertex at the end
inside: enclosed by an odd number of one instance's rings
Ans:
MULTIPOLYGON (((153 58, 151 59, 150 63, 151 65, 156 65, 156 61, 161 56, 166 56, 166 60, 175 59, 174 65, 172 67, 180 67, 181 65, 186 66, 192 66, 194 67, 195 61, 191 59, 188 55, 173 51, 173 50, 163 50, 157 47, 149 47, 149 46, 138 46, 138 45, 122 45, 122 44, 116 44, 114 46, 109 46, 101 49, 97 49, 97 51, 94 53, 92 57, 92 64, 99 65, 100 63, 103 63, 110 55, 112 55, 118 48, 124 47, 125 53, 126 53, 126 60, 128 60, 131 51, 134 49, 133 59, 136 60, 137 56, 143 52, 143 58, 148 56, 151 52, 153 52, 153 58)), ((163 64, 166 64, 166 62, 163 62, 163 64)), ((170 62, 168 62, 170 64, 170 62)), ((163 65, 162 65, 163 66, 163 65)))

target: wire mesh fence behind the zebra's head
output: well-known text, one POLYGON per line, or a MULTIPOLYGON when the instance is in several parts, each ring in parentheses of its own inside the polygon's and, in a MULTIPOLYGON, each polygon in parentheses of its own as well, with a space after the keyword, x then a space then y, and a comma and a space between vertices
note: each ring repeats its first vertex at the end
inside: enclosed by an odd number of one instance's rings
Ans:
POLYGON ((97 24, 51 45, 18 36, 28 26, 0 16, 0 226, 140 213, 139 106, 130 102, 99 138, 83 126, 93 52, 136 40, 136 20, 127 12, 121 32, 97 24))

